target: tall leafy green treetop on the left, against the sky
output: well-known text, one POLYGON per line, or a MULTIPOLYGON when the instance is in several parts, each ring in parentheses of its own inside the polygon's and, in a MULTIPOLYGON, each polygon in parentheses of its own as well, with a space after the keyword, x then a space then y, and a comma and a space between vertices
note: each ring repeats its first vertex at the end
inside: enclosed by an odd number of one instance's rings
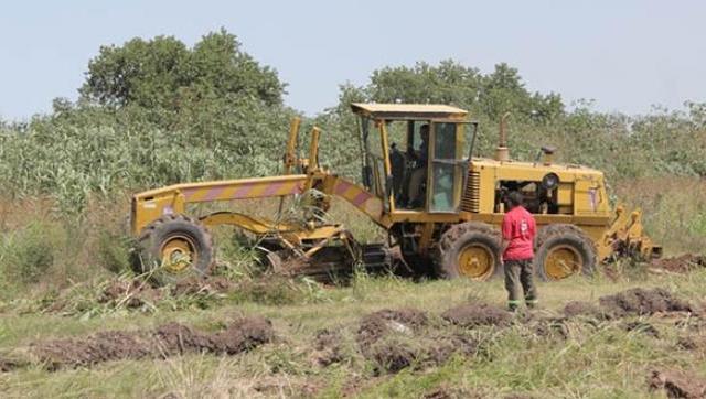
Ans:
POLYGON ((221 30, 193 48, 171 36, 103 46, 88 63, 79 93, 103 106, 180 111, 211 98, 281 105, 284 88, 274 69, 260 66, 235 35, 221 30))

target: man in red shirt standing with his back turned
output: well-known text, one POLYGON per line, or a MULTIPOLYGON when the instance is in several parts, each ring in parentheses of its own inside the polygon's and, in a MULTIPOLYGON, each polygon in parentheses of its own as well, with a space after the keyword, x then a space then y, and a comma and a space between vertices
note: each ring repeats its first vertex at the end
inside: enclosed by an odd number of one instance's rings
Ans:
POLYGON ((537 304, 537 290, 534 285, 534 217, 522 206, 522 194, 513 191, 507 194, 507 212, 503 217, 503 266, 505 269, 505 289, 507 308, 515 311, 522 303, 522 294, 527 308, 537 304))

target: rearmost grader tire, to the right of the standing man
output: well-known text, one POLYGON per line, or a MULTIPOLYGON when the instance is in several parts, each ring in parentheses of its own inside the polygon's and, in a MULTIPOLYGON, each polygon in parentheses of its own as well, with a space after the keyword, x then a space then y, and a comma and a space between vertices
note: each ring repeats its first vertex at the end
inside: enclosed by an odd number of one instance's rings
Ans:
POLYGON ((579 227, 553 224, 537 234, 534 268, 539 279, 558 281, 579 272, 590 277, 596 263, 596 246, 579 227))

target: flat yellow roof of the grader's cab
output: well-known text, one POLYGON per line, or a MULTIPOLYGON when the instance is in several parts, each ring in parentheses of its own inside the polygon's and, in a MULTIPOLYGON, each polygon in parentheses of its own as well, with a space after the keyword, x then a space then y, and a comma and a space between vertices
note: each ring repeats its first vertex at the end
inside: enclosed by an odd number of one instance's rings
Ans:
POLYGON ((375 119, 462 119, 468 115, 464 109, 437 104, 354 103, 351 109, 375 119))

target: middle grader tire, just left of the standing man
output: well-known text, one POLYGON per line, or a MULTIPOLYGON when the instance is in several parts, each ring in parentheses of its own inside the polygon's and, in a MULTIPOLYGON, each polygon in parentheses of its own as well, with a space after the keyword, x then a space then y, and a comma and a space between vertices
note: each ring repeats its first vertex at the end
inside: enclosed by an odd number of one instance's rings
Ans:
POLYGON ((500 231, 468 222, 449 228, 439 240, 437 274, 443 279, 485 281, 502 274, 500 231))

